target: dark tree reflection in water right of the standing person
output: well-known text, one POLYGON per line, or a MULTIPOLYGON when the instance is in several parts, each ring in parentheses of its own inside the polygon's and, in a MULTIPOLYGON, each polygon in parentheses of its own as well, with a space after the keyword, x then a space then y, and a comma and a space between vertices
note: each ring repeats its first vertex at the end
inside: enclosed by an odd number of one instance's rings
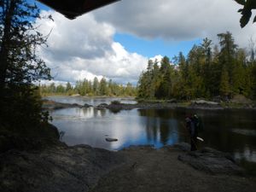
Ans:
POLYGON ((204 117, 204 131, 202 137, 205 144, 232 154, 245 154, 256 146, 256 139, 252 135, 243 135, 233 130, 254 130, 255 113, 253 111, 218 111, 208 113, 204 117), (246 150, 247 149, 247 150, 246 150))

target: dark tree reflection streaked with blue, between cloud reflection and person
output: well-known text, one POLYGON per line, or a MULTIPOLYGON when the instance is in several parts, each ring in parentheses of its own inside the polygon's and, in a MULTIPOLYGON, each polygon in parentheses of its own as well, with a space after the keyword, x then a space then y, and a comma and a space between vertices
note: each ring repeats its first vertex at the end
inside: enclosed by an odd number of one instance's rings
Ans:
POLYGON ((146 126, 148 143, 177 143, 178 127, 177 119, 173 119, 173 113, 166 109, 139 109, 143 116, 143 124, 146 126))

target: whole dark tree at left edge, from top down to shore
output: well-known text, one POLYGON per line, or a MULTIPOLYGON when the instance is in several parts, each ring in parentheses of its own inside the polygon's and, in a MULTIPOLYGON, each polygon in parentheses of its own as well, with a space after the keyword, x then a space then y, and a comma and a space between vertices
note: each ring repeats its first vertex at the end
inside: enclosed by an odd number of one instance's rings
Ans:
POLYGON ((50 79, 36 51, 47 39, 33 25, 36 19, 36 4, 0 1, 0 127, 9 136, 39 137, 48 124, 49 115, 42 111, 38 87, 33 85, 50 79))

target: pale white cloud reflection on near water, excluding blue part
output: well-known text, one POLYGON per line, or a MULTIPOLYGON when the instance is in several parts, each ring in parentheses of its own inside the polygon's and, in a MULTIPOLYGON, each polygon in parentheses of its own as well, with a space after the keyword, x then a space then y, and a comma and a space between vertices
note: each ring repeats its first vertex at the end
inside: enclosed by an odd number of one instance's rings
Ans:
POLYGON ((136 111, 113 114, 93 108, 84 112, 82 109, 65 110, 53 114, 53 124, 66 132, 62 140, 68 145, 84 143, 97 148, 118 149, 125 143, 135 144, 143 135, 139 117, 132 115, 136 111), (118 142, 106 142, 105 135, 117 138, 118 142))

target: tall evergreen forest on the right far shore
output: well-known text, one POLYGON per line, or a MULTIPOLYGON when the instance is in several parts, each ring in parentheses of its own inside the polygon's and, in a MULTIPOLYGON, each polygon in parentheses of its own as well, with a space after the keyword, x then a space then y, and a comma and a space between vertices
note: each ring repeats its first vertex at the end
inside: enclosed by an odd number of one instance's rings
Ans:
POLYGON ((253 41, 240 49, 230 32, 218 34, 219 44, 205 38, 194 45, 187 57, 180 52, 160 63, 148 61, 137 85, 138 98, 188 101, 195 98, 236 95, 256 97, 256 59, 253 41))

